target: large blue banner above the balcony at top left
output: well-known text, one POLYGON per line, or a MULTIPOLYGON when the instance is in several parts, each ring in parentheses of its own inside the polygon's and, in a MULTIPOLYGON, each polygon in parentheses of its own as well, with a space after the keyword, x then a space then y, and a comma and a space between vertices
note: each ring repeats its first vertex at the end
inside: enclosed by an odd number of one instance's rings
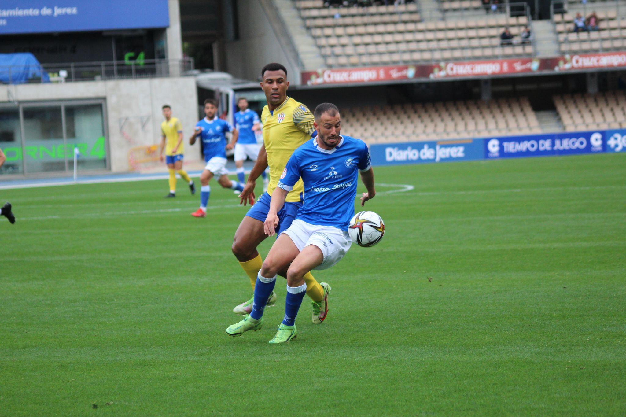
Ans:
POLYGON ((0 34, 167 28, 168 0, 2 0, 0 34))

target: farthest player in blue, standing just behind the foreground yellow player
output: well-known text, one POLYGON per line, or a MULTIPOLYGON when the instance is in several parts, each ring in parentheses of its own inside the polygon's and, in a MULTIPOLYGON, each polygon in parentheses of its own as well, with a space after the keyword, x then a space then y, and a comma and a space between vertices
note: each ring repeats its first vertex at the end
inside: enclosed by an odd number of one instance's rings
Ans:
MULTIPOLYGON (((261 121, 256 111, 248 108, 248 100, 240 97, 237 100, 239 111, 235 113, 235 127, 239 130, 239 140, 235 144, 235 168, 237 168, 237 180, 245 183, 244 161, 246 157, 256 161, 261 149, 257 142, 255 132, 261 130, 261 121)), ((267 191, 267 173, 262 172, 263 192, 267 191)), ((239 194, 239 192, 237 192, 239 194)))

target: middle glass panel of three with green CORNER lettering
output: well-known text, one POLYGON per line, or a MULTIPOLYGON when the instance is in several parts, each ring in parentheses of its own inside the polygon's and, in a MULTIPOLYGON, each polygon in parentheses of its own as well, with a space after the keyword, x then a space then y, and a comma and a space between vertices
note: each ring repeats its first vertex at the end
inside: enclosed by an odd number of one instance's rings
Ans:
POLYGON ((23 113, 26 172, 66 170, 61 106, 24 107, 23 113))

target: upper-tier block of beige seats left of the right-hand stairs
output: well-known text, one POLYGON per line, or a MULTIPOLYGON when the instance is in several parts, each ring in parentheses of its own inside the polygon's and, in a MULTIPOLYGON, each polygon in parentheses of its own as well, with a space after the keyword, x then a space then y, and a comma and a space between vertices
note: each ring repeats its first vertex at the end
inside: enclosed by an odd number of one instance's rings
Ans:
POLYGON ((532 44, 501 46, 505 26, 514 36, 526 16, 421 21, 418 4, 327 8, 322 0, 295 0, 327 66, 494 59, 533 54, 532 44))

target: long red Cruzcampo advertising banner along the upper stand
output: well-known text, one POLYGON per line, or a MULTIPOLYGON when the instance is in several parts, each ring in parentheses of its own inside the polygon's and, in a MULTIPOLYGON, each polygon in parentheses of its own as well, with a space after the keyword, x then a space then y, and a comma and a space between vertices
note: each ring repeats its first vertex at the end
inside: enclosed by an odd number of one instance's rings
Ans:
POLYGON ((390 65, 361 68, 329 68, 303 71, 307 86, 381 83, 386 81, 440 80, 506 76, 554 71, 583 71, 626 67, 626 52, 577 54, 553 58, 491 59, 487 61, 441 61, 437 64, 390 65))

